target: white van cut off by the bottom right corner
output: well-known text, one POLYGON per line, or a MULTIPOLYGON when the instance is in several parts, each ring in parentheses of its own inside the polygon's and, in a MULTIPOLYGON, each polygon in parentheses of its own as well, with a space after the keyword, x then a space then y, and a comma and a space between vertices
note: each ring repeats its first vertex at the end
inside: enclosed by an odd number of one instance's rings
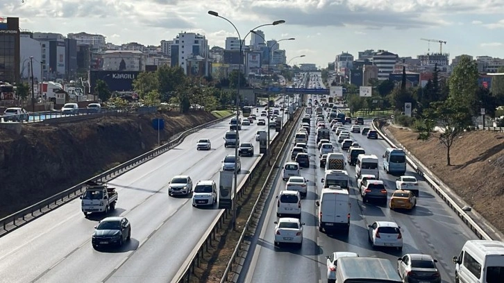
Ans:
POLYGON ((453 263, 455 282, 504 282, 504 242, 467 241, 453 263))

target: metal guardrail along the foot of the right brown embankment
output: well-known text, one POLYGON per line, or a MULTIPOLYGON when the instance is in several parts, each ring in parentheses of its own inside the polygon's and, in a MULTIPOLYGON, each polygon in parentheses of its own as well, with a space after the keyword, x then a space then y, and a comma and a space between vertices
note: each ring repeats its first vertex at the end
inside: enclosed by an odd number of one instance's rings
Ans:
MULTIPOLYGON (((376 130, 376 132, 378 132, 378 135, 380 135, 380 137, 382 137, 385 141, 387 141, 387 143, 390 144, 391 146, 397 147, 394 144, 394 142, 385 137, 380 127, 376 125, 377 121, 378 119, 373 119, 373 123, 371 123, 371 125, 376 130)), ((403 146, 402 148, 406 151, 406 149, 403 146)), ((436 182, 432 180, 432 178, 430 178, 429 176, 430 174, 428 172, 423 172, 420 169, 420 167, 417 164, 415 164, 412 158, 408 156, 411 155, 411 157, 415 158, 411 153, 407 152, 406 155, 407 155, 406 162, 408 162, 408 164, 412 166, 414 171, 416 171, 417 173, 419 173, 419 175, 425 178, 427 184, 430 187, 432 187, 432 189, 434 189, 436 194, 438 194, 446 204, 448 204, 448 207, 450 207, 451 209, 453 209, 454 212, 457 213, 457 215, 462 219, 462 221, 466 223, 466 225, 476 234, 476 236, 479 239, 492 240, 492 237, 490 237, 485 231, 483 231, 482 228, 478 224, 476 224, 475 221, 473 221, 471 216, 469 216, 469 214, 464 212, 464 210, 462 210, 462 208, 459 205, 457 205, 457 203, 455 203, 455 200, 453 200, 450 196, 448 196, 448 194, 446 194, 446 191, 444 191, 441 187, 439 187, 439 185, 437 185, 436 182)))

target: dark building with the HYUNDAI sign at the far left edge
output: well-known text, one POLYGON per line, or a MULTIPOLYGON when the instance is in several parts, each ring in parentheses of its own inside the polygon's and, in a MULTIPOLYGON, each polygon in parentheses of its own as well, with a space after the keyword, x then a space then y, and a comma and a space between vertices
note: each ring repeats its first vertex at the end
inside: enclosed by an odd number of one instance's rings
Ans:
POLYGON ((0 17, 0 81, 19 81, 19 18, 0 17))

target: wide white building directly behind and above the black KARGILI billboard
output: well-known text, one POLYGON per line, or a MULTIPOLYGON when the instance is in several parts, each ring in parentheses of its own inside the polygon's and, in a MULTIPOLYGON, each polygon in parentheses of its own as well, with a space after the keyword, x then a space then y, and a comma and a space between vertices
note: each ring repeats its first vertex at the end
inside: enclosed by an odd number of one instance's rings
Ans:
POLYGON ((144 71, 145 54, 141 51, 107 50, 103 54, 103 69, 110 71, 144 71), (121 69, 121 62, 126 69, 121 69))

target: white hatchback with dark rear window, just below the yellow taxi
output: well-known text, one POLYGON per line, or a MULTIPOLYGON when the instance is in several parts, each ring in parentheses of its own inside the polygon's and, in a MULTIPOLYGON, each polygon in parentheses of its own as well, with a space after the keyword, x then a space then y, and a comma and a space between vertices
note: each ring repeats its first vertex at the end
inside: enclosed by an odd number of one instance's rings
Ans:
POLYGON ((373 248, 378 246, 403 250, 401 227, 392 221, 376 221, 368 226, 368 239, 373 248))

